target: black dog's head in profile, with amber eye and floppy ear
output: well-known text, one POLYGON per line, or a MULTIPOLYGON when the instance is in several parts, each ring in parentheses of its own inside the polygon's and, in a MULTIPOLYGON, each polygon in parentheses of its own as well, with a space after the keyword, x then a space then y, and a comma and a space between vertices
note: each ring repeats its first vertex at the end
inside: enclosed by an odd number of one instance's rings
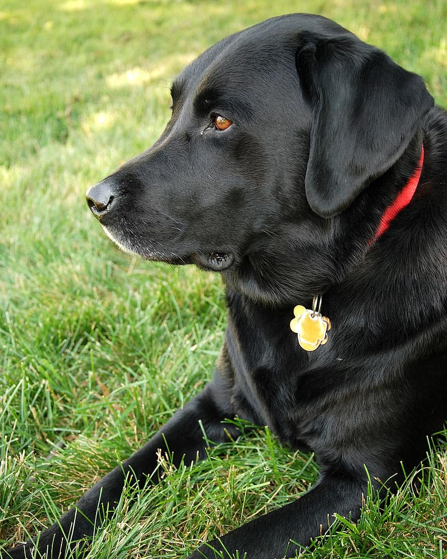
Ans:
POLYGON ((336 23, 274 18, 183 70, 163 134, 88 205, 129 252, 290 304, 365 250, 387 205, 382 178, 406 150, 417 160, 432 105, 419 76, 336 23))

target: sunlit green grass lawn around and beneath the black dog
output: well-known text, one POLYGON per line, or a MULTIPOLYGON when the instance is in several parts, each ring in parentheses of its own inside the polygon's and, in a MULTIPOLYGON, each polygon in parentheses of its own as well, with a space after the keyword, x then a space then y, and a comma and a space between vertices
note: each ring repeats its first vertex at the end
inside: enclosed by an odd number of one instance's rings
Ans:
MULTIPOLYGON (((188 61, 293 11, 381 46, 447 105, 445 0, 0 0, 0 544, 54 522, 210 378, 218 278, 123 255, 84 192, 157 138, 188 61)), ((203 463, 166 462, 132 507, 126 490, 90 557, 185 556, 315 481, 312 457, 246 430, 203 463)), ((431 451, 420 495, 368 500, 303 557, 447 556, 446 462, 431 451)))

